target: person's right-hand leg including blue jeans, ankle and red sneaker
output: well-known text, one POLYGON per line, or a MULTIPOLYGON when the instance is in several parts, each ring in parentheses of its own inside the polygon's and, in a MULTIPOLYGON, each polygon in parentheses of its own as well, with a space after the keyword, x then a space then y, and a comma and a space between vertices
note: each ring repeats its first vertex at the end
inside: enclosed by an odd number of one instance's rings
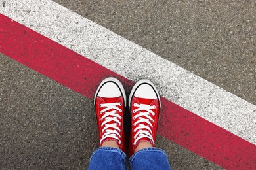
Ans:
POLYGON ((129 96, 131 135, 129 154, 131 169, 171 169, 165 152, 155 148, 160 96, 149 80, 140 80, 129 96))

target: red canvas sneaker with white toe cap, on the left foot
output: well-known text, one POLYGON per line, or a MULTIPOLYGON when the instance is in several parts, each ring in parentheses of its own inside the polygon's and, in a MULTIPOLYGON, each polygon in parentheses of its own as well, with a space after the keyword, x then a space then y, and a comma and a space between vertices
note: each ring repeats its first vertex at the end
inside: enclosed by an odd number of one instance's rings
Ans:
POLYGON ((123 114, 126 96, 123 85, 116 78, 106 78, 98 86, 94 101, 100 146, 104 141, 116 141, 119 148, 125 152, 123 114))

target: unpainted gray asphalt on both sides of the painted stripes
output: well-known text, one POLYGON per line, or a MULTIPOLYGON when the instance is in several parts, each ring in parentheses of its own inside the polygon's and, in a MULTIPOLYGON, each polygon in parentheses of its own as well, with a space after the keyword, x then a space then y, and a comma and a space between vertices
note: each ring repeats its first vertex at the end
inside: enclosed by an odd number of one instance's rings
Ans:
MULTIPOLYGON (((255 1, 54 0, 256 104, 255 1)), ((1 169, 86 169, 93 101, 0 54, 1 169)), ((221 167, 158 136, 172 169, 221 167)))

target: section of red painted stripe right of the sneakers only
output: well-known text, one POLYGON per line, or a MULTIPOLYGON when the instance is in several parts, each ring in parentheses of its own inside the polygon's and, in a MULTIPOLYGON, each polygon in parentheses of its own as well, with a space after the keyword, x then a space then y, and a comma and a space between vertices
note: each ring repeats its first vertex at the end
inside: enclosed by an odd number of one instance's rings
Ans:
POLYGON ((225 169, 256 169, 256 146, 162 98, 158 134, 225 169))

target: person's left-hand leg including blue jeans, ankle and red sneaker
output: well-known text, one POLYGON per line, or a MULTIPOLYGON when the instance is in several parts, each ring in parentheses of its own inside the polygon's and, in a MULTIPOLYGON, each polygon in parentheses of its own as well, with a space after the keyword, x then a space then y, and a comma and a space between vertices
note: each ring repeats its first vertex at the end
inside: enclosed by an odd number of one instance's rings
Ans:
POLYGON ((116 78, 106 78, 95 94, 100 147, 93 152, 89 169, 126 169, 123 114, 125 90, 116 78))

